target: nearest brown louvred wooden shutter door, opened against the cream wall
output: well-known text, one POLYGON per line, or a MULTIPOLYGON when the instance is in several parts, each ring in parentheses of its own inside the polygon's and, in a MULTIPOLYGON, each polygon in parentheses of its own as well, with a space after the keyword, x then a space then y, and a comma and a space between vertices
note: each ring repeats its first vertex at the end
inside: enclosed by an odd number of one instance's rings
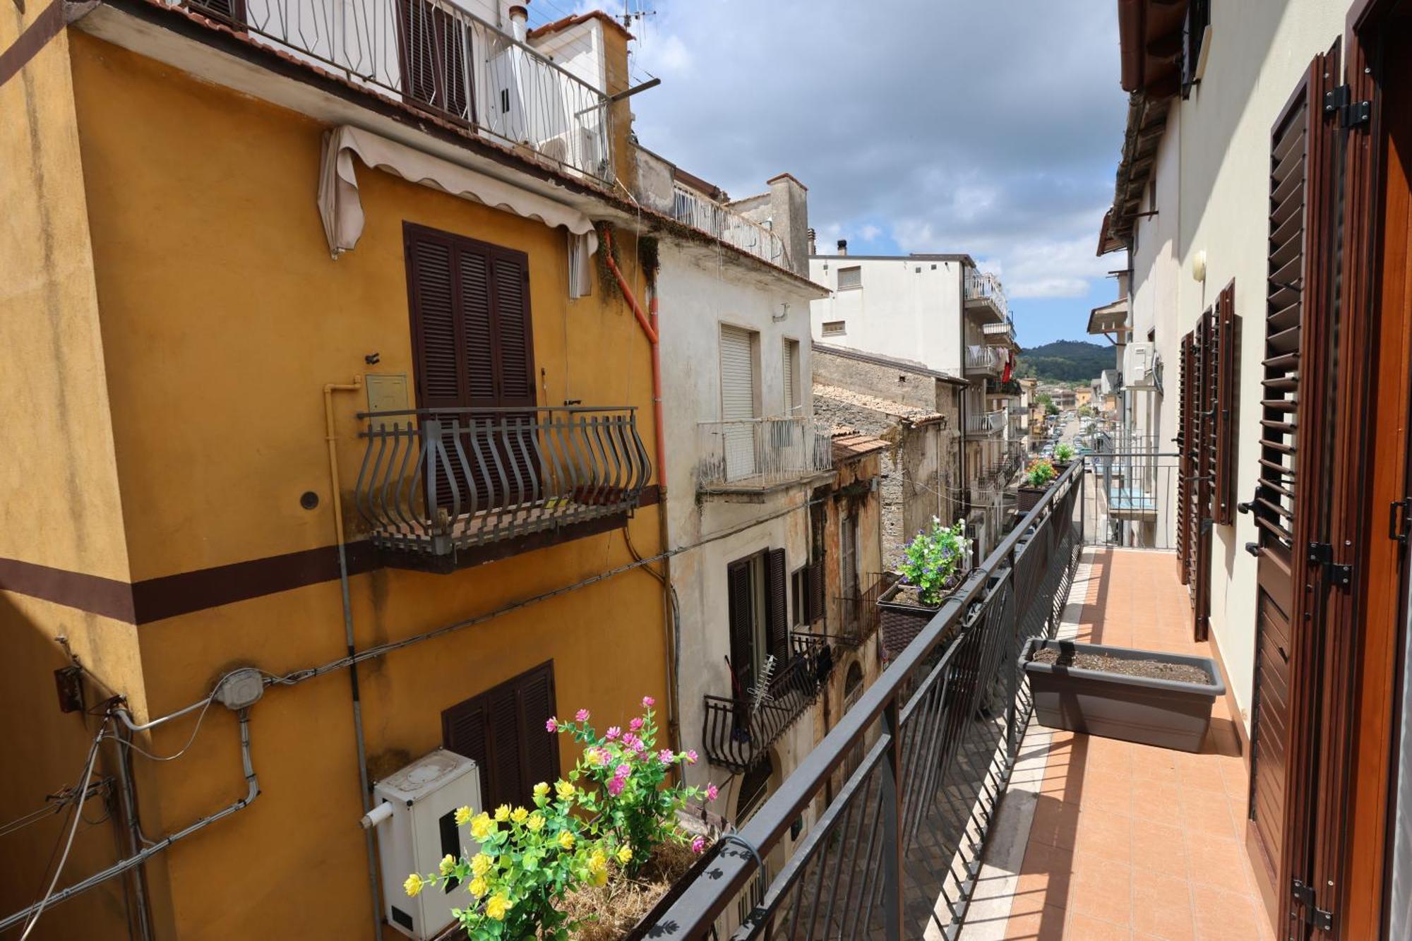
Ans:
MULTIPOLYGON (((1271 134, 1269 256, 1261 357, 1260 468, 1248 509, 1258 557, 1251 781, 1247 841, 1271 917, 1285 925, 1291 886, 1308 880, 1305 848, 1317 736, 1316 599, 1327 569, 1310 552, 1326 540, 1329 404, 1337 226, 1334 141, 1324 92, 1337 45, 1317 57, 1271 134)), ((1302 918, 1302 914, 1296 914, 1302 918)), ((1303 927, 1291 921, 1291 931, 1303 927)), ((1276 933, 1285 937, 1284 930, 1276 933)))

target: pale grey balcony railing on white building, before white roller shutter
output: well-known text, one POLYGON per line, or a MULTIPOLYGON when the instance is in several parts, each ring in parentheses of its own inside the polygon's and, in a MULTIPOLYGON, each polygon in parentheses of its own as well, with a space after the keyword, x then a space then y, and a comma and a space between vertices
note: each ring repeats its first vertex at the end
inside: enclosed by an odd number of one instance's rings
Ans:
POLYGON ((696 428, 702 493, 762 490, 833 468, 833 444, 808 417, 702 421, 696 428))

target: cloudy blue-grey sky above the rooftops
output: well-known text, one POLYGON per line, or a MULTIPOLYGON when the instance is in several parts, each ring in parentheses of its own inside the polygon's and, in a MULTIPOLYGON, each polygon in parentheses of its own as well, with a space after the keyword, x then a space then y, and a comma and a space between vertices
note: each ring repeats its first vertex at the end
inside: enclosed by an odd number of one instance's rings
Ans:
POLYGON ((1094 257, 1125 113, 1114 0, 628 3, 655 10, 633 27, 634 71, 662 79, 633 99, 644 146, 733 196, 789 171, 820 249, 970 253, 1022 345, 1089 339, 1121 263, 1094 257))

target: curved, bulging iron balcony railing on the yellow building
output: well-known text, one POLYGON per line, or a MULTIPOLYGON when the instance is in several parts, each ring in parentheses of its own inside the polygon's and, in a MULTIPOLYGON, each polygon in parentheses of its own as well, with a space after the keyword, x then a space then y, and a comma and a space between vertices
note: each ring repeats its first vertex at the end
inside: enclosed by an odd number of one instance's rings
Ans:
POLYGON ((357 509, 378 548, 449 555, 631 511, 651 475, 634 407, 359 415, 357 509))

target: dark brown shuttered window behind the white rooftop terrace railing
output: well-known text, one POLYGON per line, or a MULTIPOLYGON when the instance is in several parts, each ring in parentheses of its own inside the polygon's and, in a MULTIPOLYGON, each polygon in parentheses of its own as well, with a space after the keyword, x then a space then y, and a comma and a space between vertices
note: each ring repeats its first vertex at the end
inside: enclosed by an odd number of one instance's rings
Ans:
POLYGON ((398 27, 402 97, 474 122, 467 23, 431 0, 398 0, 398 27))

